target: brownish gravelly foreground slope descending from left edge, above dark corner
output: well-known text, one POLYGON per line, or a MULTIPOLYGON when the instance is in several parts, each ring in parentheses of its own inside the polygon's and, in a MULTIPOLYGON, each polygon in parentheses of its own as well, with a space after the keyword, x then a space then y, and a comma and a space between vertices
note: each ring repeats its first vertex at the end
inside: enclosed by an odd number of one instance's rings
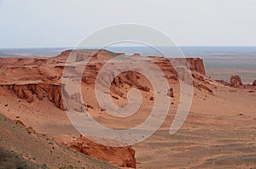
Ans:
MULTIPOLYGON (((42 168, 59 168, 73 166, 74 168, 113 168, 106 161, 95 159, 80 154, 72 149, 55 142, 47 134, 32 132, 20 124, 10 121, 7 117, 0 115, 0 145, 1 148, 14 152, 18 157, 27 160, 27 166, 17 163, 11 166, 9 162, 0 162, 5 168, 34 168, 28 161, 32 161, 42 168), (31 166, 31 167, 29 167, 31 166)), ((15 161, 12 165, 15 164, 15 161)), ((37 166, 39 168, 39 166, 37 166)))

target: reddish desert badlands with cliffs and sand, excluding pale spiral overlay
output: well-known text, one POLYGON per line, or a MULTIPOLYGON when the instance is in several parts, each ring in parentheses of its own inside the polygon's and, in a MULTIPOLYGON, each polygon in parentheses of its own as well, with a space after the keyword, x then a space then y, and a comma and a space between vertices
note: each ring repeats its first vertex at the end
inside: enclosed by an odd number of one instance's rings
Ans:
MULTIPOLYGON (((125 59, 158 65, 169 84, 163 95, 171 101, 165 121, 151 137, 132 146, 112 147, 82 136, 67 117, 61 80, 71 52, 52 58, 0 59, 0 168, 256 168, 256 84, 242 84, 239 76, 232 76, 230 82, 215 81, 206 76, 202 59, 187 59, 193 101, 183 126, 171 135, 182 101, 172 64, 158 56, 145 60, 139 54, 121 54, 125 59)), ((92 56, 81 77, 81 109, 113 129, 137 127, 147 119, 155 96, 145 76, 136 71, 108 76, 112 82, 108 94, 114 104, 125 106, 131 88, 142 95, 135 114, 125 118, 108 115, 97 103, 95 81, 102 66, 118 54, 73 52, 77 62, 92 56)))

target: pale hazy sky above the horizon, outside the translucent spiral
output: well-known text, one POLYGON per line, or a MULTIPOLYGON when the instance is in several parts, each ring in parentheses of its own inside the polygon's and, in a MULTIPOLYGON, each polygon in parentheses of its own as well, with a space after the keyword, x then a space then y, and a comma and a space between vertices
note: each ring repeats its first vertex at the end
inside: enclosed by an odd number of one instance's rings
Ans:
POLYGON ((0 0, 0 48, 73 47, 122 23, 152 26, 178 46, 256 46, 254 0, 0 0))

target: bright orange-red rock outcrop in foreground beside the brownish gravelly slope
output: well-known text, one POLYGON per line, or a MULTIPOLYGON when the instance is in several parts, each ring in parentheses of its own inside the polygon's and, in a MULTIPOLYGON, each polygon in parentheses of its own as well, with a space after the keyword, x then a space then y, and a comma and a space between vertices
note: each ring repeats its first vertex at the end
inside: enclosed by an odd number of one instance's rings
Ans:
POLYGON ((69 143, 62 142, 71 149, 75 149, 84 155, 96 157, 100 160, 110 161, 113 165, 136 168, 135 150, 131 146, 110 147, 96 144, 88 138, 80 136, 69 143))

